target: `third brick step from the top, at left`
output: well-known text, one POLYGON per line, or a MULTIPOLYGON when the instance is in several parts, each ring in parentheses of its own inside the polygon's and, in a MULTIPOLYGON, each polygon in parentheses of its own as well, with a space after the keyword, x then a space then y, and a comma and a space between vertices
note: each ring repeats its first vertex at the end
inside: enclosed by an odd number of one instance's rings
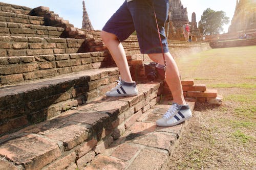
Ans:
POLYGON ((25 23, 0 22, 0 35, 20 37, 59 38, 65 29, 50 26, 38 26, 25 23))

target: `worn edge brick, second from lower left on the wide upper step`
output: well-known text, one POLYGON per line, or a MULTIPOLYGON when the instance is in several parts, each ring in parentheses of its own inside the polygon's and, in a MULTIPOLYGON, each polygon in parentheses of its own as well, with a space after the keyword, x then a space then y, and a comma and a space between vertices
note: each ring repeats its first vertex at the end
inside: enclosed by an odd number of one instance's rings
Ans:
POLYGON ((66 125, 46 134, 51 139, 63 142, 65 150, 70 150, 82 143, 89 136, 88 129, 78 125, 66 125))

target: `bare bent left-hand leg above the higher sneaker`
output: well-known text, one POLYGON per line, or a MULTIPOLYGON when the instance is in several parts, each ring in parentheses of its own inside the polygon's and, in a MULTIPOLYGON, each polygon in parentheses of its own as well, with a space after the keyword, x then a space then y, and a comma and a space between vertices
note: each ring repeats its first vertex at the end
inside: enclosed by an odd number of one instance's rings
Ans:
POLYGON ((125 82, 133 82, 123 45, 118 40, 116 35, 101 31, 101 38, 106 47, 108 47, 120 71, 121 79, 125 82))

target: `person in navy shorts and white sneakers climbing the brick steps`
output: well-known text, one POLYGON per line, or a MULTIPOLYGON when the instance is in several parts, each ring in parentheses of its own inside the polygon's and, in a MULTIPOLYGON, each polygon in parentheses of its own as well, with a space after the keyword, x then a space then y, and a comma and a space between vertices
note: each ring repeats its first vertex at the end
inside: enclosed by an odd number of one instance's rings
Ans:
POLYGON ((177 64, 169 53, 165 36, 164 26, 168 16, 168 7, 167 0, 125 0, 106 22, 101 32, 102 40, 108 47, 121 76, 118 85, 106 92, 106 96, 138 95, 138 89, 132 80, 121 43, 134 31, 137 33, 141 53, 147 54, 153 61, 162 65, 164 65, 163 58, 165 58, 165 81, 172 91, 173 104, 163 117, 157 120, 158 126, 175 126, 192 116, 184 99, 177 64))

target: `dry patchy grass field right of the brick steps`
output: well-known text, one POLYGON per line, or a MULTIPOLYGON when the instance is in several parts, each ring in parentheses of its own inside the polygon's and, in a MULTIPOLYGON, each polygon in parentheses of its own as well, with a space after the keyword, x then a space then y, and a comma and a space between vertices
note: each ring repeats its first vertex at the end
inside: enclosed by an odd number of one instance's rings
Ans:
POLYGON ((182 79, 218 89, 220 107, 197 104, 169 169, 256 169, 256 46, 177 58, 182 79))

